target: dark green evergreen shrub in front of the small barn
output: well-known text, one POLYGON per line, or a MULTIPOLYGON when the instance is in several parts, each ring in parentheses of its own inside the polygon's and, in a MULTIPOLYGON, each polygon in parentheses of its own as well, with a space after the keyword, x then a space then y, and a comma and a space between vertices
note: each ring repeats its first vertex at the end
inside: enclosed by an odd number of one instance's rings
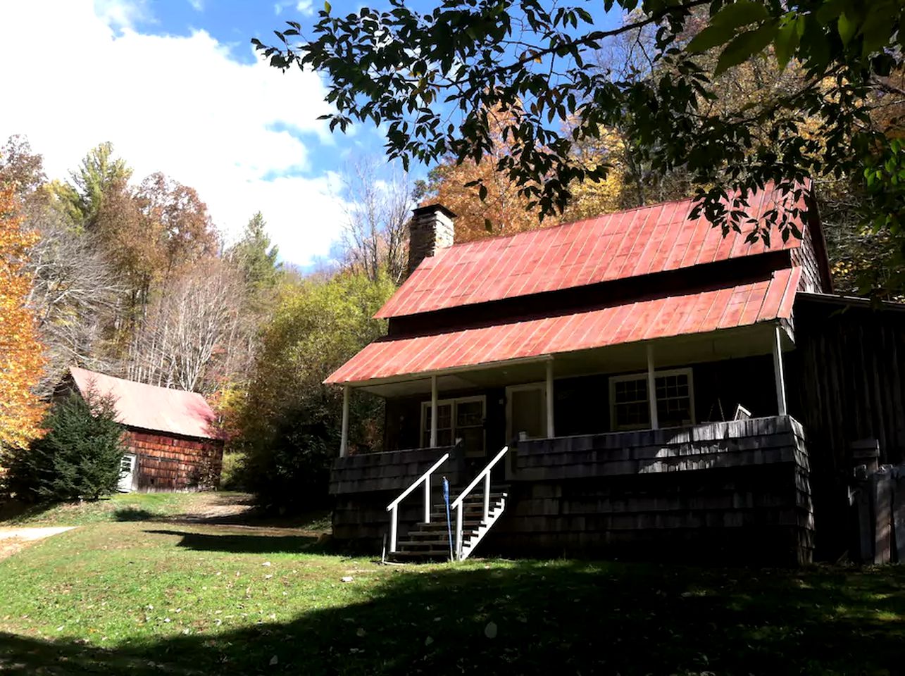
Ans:
POLYGON ((117 489, 126 448, 111 397, 72 393, 44 418, 47 433, 5 460, 6 488, 21 500, 97 500, 117 489))

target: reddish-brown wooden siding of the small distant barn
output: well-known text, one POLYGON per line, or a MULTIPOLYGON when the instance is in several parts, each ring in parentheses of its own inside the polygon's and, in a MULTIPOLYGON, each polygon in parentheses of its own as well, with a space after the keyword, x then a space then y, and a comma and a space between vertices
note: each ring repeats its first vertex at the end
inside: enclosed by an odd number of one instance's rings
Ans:
POLYGON ((136 488, 148 492, 216 488, 223 442, 129 428, 125 443, 138 456, 136 488), (210 481, 214 480, 214 485, 210 481))

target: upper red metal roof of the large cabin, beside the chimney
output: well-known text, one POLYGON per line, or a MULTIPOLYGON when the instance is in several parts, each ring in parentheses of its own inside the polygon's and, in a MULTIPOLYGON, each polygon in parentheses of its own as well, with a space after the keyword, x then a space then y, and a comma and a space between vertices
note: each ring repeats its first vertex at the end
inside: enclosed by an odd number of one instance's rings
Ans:
MULTIPOLYGON (((758 219, 781 208, 776 189, 751 195, 748 202, 748 213, 758 219)), ((760 241, 745 242, 746 233, 723 237, 703 216, 689 220, 692 206, 691 199, 667 202, 457 244, 425 258, 376 317, 527 296, 768 251, 760 241)), ((804 230, 804 224, 798 227, 804 230)), ((775 248, 799 245, 790 237, 775 248)))

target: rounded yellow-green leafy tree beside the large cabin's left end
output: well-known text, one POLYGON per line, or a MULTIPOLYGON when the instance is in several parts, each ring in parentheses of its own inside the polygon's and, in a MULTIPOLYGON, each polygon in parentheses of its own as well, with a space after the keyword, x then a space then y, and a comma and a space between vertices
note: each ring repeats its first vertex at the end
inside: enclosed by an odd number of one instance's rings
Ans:
MULTIPOLYGON (((361 272, 283 282, 247 395, 232 402, 238 414, 225 416, 234 426, 231 446, 245 455, 243 483, 262 505, 300 509, 326 500, 342 394, 322 381, 386 331, 373 316, 394 290, 386 276, 375 282, 361 272)), ((353 448, 379 450, 380 406, 373 396, 352 397, 353 448)))

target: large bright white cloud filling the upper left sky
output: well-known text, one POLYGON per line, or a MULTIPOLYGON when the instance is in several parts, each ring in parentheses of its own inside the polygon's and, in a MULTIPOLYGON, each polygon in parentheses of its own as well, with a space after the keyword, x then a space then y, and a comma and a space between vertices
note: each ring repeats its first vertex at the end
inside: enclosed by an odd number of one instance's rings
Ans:
POLYGON ((328 110, 319 77, 235 62, 204 31, 138 33, 142 6, 0 5, 0 71, 5 91, 17 92, 16 105, 0 106, 0 142, 25 134, 48 175, 62 178, 110 140, 138 178, 163 171, 195 187, 226 233, 260 209, 284 259, 327 255, 343 212, 327 172, 310 163, 309 148, 332 143, 317 120, 328 110), (44 43, 67 45, 62 66, 28 56, 37 26, 44 43))

